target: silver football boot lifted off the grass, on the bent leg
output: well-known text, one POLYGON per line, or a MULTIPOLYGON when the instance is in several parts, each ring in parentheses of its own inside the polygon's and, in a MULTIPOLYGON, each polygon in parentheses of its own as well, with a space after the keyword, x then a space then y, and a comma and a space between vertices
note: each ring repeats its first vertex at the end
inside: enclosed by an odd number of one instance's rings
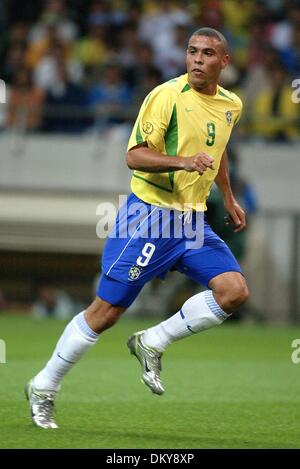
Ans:
POLYGON ((127 347, 132 355, 135 355, 142 366, 142 382, 151 389, 154 394, 165 392, 161 381, 161 356, 162 353, 147 347, 143 342, 145 331, 136 332, 129 337, 127 347))

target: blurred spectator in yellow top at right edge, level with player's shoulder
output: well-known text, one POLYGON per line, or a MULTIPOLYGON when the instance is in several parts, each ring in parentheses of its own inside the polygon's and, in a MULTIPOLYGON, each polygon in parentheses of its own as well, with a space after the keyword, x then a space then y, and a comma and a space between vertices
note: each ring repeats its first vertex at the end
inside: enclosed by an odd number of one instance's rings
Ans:
POLYGON ((258 93, 252 108, 255 135, 286 142, 299 136, 298 107, 291 100, 291 86, 282 67, 269 71, 271 87, 258 93))

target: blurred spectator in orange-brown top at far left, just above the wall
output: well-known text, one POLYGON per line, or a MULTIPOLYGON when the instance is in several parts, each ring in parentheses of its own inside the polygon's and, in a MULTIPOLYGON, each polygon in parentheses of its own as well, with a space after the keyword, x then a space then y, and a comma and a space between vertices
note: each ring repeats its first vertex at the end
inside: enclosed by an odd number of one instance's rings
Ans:
POLYGON ((32 84, 29 70, 25 67, 20 68, 9 90, 6 126, 38 130, 44 97, 44 92, 32 84))

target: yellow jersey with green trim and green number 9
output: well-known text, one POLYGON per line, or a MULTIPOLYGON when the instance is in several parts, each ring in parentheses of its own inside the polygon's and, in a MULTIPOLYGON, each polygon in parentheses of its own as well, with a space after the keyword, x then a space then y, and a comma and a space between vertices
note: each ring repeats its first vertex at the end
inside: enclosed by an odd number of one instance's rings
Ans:
POLYGON ((222 155, 242 111, 240 98, 217 87, 215 95, 195 91, 188 75, 156 88, 145 98, 127 150, 147 142, 165 155, 193 156, 200 151, 214 159, 214 169, 166 173, 134 171, 132 192, 144 202, 177 210, 206 210, 206 199, 218 174, 222 155))

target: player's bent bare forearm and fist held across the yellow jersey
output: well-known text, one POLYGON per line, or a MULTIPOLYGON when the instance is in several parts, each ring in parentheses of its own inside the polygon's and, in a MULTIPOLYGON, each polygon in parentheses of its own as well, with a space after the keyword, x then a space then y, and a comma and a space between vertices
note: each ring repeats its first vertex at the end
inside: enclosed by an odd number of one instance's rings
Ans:
POLYGON ((148 173, 166 173, 168 171, 185 170, 198 171, 202 175, 207 169, 214 169, 214 160, 204 152, 193 156, 167 156, 152 150, 145 145, 131 148, 126 155, 127 165, 130 169, 146 171, 148 173))

